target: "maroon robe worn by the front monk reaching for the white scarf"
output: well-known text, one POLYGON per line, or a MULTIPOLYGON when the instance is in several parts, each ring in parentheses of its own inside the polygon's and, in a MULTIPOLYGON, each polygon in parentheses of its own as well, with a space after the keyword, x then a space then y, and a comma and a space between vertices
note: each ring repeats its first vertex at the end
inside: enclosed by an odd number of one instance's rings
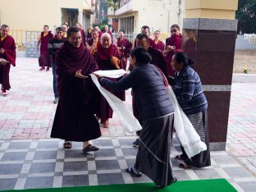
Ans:
POLYGON ((60 94, 53 121, 51 137, 72 141, 87 141, 101 136, 94 117, 92 91, 96 89, 91 78, 82 80, 75 72, 88 75, 98 70, 85 46, 74 48, 66 41, 56 55, 57 89, 60 94))

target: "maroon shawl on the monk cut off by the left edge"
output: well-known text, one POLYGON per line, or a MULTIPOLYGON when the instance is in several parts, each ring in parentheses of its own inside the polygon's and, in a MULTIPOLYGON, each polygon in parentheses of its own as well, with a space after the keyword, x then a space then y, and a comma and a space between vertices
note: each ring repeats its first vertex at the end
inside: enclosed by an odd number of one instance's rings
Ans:
POLYGON ((11 63, 12 66, 16 66, 16 45, 14 39, 7 34, 7 37, 1 41, 0 48, 4 49, 4 53, 0 53, 0 58, 4 58, 11 63))

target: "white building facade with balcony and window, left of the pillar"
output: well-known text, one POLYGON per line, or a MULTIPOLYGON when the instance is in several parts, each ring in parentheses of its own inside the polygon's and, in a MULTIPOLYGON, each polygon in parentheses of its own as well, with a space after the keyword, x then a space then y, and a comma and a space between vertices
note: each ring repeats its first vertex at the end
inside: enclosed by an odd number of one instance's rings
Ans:
POLYGON ((171 25, 182 27, 184 1, 182 0, 120 0, 115 11, 118 29, 126 33, 139 33, 141 26, 149 25, 151 31, 168 33, 171 25))

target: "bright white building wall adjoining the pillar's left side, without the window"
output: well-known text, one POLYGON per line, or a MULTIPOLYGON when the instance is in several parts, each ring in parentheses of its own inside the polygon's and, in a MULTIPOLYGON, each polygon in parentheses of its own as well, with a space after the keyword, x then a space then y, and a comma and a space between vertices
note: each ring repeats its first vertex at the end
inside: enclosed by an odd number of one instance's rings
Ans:
MULTIPOLYGON (((120 14, 118 17, 135 16, 135 34, 139 33, 141 26, 149 25, 153 30, 168 33, 171 25, 182 27, 184 17, 184 1, 181 0, 132 0, 128 2, 132 11, 120 14), (181 3, 181 6, 179 5, 181 3), (181 9, 179 9, 181 7, 181 9)), ((128 7, 128 5, 126 5, 128 7)), ((118 13, 118 11, 117 11, 118 13)))

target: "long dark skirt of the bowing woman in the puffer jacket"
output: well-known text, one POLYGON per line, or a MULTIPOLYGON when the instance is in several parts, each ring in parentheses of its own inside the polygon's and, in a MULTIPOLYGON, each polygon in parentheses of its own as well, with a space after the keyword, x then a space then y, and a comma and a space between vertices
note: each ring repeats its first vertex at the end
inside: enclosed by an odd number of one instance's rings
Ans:
POLYGON ((142 123, 135 168, 156 185, 167 186, 176 181, 170 159, 172 128, 173 114, 142 123))

